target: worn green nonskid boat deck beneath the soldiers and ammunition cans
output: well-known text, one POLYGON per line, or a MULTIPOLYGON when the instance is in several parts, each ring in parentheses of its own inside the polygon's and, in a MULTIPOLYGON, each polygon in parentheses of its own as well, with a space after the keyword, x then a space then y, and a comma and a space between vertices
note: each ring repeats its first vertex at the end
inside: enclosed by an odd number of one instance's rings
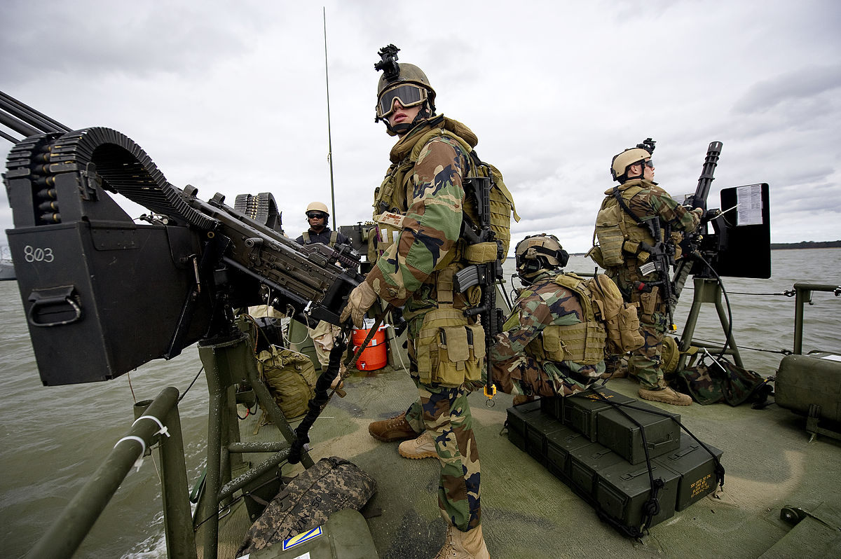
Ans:
MULTIPOLYGON (((407 460, 397 443, 368 435, 368 423, 404 411, 415 387, 402 371, 360 373, 346 380, 346 398, 332 398, 310 433, 311 456, 341 456, 378 483, 363 514, 380 559, 426 559, 444 540, 446 526, 436 503, 436 460, 407 460)), ((617 379, 608 388, 637 396, 637 384, 617 379)), ((674 409, 699 439, 723 451, 726 469, 720 499, 703 498, 653 526, 642 542, 632 541, 600 521, 595 511, 546 468, 500 434, 511 397, 495 406, 470 396, 473 429, 482 465, 482 525, 491 556, 499 558, 621 556, 759 557, 791 526, 780 509, 841 509, 841 445, 821 437, 810 443, 805 419, 771 405, 751 409, 727 404, 674 409)), ((250 435, 251 419, 242 432, 250 435)), ((263 426, 258 437, 277 433, 263 426)), ((294 475, 294 470, 284 471, 294 475)))

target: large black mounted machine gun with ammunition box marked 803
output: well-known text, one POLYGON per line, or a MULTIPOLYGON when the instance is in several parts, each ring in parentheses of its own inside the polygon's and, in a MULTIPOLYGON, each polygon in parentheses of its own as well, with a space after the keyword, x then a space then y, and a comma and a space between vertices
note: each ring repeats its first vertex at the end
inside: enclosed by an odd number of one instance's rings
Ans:
POLYGON ((271 194, 204 202, 116 130, 71 130, 2 92, 0 109, 25 136, 3 133, 16 142, 6 234, 45 385, 107 380, 225 340, 238 334, 234 309, 251 305, 339 324, 361 255, 285 237, 271 194), (151 210, 147 223, 108 192, 151 210))

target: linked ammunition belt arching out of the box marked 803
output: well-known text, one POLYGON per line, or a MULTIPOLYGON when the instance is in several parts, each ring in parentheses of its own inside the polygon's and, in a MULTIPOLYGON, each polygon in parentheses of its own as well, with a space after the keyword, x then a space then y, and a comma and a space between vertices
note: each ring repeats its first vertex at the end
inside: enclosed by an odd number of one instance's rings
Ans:
POLYGON ((96 127, 67 134, 32 136, 15 145, 8 156, 8 177, 29 174, 44 187, 35 192, 45 212, 43 224, 61 223, 61 208, 56 206, 50 187, 56 175, 81 173, 86 181, 101 178, 103 188, 118 192, 157 214, 182 219, 200 229, 214 229, 215 222, 186 203, 181 192, 167 182, 151 157, 133 140, 113 129, 96 127), (95 171, 92 172, 92 171, 95 171))

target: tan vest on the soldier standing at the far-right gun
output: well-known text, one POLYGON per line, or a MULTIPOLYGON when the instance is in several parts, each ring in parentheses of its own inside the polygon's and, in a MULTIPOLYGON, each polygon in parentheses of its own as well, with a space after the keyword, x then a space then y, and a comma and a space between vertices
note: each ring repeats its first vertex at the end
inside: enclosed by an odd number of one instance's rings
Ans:
POLYGON ((614 192, 619 193, 627 207, 631 198, 652 185, 653 182, 644 179, 633 179, 605 192, 607 198, 595 217, 594 246, 587 253, 596 264, 603 268, 621 266, 628 256, 635 256, 640 264, 648 261, 650 255, 640 247, 640 243, 653 246, 658 241, 654 240, 645 224, 639 223, 640 219, 621 207, 614 192))

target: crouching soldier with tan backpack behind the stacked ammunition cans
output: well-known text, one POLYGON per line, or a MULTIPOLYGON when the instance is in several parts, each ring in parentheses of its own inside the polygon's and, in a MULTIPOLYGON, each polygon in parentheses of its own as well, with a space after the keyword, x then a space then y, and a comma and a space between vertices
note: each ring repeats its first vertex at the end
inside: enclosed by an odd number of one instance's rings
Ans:
POLYGON ((496 386, 515 403, 586 390, 605 372, 604 325, 590 317, 588 329, 584 295, 563 285, 569 254, 546 234, 521 240, 515 254, 524 287, 489 350, 496 386))

